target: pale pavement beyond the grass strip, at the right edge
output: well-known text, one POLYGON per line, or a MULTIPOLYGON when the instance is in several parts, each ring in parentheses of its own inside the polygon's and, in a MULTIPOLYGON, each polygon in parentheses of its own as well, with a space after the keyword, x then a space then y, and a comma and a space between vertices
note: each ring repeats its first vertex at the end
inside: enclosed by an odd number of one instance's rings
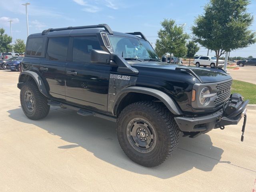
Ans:
POLYGON ((228 70, 228 72, 235 80, 256 84, 256 66, 243 66, 239 67, 239 70, 228 70))

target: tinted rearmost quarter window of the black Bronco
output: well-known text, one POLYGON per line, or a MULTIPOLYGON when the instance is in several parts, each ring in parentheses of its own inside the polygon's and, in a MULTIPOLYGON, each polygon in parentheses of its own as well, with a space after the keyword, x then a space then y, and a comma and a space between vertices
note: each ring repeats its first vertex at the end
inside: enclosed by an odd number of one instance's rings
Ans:
POLYGON ((26 55, 40 56, 42 54, 43 38, 29 38, 26 55))

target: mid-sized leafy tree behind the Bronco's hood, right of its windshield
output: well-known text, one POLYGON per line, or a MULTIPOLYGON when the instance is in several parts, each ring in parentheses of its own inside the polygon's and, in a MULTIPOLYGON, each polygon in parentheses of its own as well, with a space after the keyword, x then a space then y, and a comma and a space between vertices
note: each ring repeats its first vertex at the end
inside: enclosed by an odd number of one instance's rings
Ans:
POLYGON ((158 38, 156 40, 156 53, 159 57, 166 53, 174 54, 177 57, 183 57, 187 53, 186 40, 189 38, 188 34, 184 33, 182 26, 177 26, 175 21, 164 19, 161 22, 163 29, 158 31, 158 38))

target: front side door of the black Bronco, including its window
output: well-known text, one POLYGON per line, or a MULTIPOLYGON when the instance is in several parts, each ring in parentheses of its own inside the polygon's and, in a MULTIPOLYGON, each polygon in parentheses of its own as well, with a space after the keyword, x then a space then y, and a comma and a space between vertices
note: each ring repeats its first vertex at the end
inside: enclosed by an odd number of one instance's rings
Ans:
POLYGON ((96 36, 74 37, 66 66, 66 101, 92 110, 107 111, 109 64, 92 64, 90 52, 101 50, 96 36))

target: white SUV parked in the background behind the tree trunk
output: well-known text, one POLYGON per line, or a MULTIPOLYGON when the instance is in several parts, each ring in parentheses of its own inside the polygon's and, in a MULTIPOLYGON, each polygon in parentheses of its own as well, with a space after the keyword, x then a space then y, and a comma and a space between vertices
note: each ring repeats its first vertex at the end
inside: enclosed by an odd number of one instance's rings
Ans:
MULTIPOLYGON (((200 66, 211 66, 215 67, 216 66, 216 61, 217 58, 214 56, 196 56, 194 58, 194 65, 197 67, 200 66)), ((218 62, 218 67, 223 67, 224 66, 224 60, 219 60, 218 62)))

